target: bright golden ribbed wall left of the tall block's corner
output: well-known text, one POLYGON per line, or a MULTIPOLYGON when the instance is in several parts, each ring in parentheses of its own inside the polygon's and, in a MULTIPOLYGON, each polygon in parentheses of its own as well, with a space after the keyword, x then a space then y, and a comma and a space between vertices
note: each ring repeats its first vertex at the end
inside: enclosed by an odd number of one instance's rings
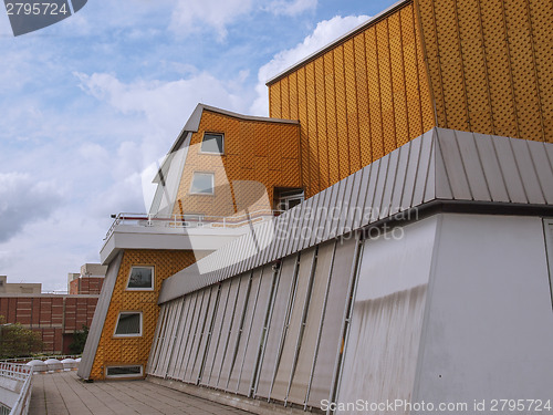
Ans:
POLYGON ((436 125, 413 3, 269 84, 272 117, 300 120, 307 196, 436 125))

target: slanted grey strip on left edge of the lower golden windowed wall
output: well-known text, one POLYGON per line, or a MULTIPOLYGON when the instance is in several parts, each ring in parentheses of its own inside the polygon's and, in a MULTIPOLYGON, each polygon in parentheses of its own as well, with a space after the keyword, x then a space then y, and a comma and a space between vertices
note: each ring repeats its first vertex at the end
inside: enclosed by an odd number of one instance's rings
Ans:
POLYGON ((123 251, 121 251, 117 257, 115 257, 115 259, 107 266, 104 286, 102 287, 102 292, 100 293, 96 310, 94 311, 91 329, 88 331, 88 338, 86 339, 86 343, 84 345, 83 357, 81 360, 81 363, 79 364, 79 377, 87 380, 91 375, 92 364, 94 363, 94 357, 96 356, 96 351, 98 349, 100 338, 102 335, 102 331, 104 330, 105 319, 107 315, 107 310, 109 309, 109 303, 112 301, 113 289, 117 280, 122 259, 123 251))

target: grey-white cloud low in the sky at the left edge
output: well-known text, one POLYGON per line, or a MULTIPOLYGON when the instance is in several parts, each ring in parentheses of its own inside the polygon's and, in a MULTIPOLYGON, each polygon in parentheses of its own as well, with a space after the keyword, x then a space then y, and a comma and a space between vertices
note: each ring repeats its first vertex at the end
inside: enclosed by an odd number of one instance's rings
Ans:
POLYGON ((28 174, 0 173, 0 242, 8 241, 28 224, 48 219, 61 199, 53 183, 28 174))

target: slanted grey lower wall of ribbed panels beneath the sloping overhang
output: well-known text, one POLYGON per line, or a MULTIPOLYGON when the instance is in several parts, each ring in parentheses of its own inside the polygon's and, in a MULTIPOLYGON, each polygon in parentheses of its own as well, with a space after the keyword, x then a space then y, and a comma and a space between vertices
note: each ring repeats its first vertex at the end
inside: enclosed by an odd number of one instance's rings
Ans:
POLYGON ((164 303, 147 373, 320 407, 336 385, 358 246, 330 240, 164 303))

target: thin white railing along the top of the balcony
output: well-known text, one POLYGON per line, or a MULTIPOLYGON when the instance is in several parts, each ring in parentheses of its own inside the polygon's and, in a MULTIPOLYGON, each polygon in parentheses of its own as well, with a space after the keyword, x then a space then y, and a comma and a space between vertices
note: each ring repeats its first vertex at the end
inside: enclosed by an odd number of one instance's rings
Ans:
POLYGON ((282 210, 260 209, 234 216, 173 215, 169 217, 149 214, 118 214, 114 217, 104 240, 109 239, 119 225, 159 228, 240 228, 269 220, 281 212, 282 210))

